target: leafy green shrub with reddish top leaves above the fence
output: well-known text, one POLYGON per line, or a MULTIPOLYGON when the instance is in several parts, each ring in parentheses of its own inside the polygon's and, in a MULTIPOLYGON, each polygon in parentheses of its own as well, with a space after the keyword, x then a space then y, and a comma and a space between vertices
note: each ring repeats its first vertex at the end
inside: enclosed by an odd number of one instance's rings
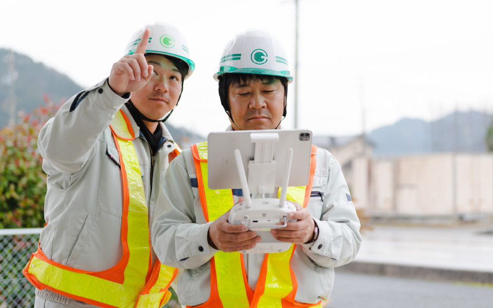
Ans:
POLYGON ((0 228, 45 224, 46 174, 37 136, 61 105, 45 95, 45 105, 20 113, 18 124, 0 130, 0 228))

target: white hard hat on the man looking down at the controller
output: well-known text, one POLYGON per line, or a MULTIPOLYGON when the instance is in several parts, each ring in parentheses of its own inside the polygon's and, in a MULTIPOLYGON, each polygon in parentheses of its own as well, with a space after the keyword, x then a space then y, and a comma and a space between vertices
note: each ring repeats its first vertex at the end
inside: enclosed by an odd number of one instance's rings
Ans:
POLYGON ((258 29, 239 32, 226 44, 214 79, 219 81, 226 73, 281 76, 288 83, 293 81, 282 45, 271 33, 258 29))

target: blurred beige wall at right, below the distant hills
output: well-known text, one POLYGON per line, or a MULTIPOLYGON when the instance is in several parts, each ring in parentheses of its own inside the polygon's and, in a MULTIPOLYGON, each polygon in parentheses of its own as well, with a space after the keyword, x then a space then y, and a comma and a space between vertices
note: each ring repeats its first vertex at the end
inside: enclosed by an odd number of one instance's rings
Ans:
POLYGON ((356 158, 349 186, 372 216, 493 214, 493 155, 356 158))

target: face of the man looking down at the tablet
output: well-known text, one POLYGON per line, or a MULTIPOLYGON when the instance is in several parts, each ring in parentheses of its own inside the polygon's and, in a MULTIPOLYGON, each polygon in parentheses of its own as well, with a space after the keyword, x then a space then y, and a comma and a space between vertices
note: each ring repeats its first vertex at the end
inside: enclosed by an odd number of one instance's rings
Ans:
POLYGON ((227 89, 234 130, 275 129, 284 111, 284 86, 261 80, 231 83, 227 89))

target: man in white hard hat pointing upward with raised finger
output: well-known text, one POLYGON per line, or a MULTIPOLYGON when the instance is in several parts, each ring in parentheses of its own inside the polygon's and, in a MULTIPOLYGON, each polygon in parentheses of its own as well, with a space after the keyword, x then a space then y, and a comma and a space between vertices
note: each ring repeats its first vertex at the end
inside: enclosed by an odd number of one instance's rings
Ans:
POLYGON ((109 77, 42 128, 46 226, 24 268, 34 306, 160 307, 177 269, 150 245, 160 178, 179 153, 164 121, 194 71, 168 24, 135 33, 109 77))

